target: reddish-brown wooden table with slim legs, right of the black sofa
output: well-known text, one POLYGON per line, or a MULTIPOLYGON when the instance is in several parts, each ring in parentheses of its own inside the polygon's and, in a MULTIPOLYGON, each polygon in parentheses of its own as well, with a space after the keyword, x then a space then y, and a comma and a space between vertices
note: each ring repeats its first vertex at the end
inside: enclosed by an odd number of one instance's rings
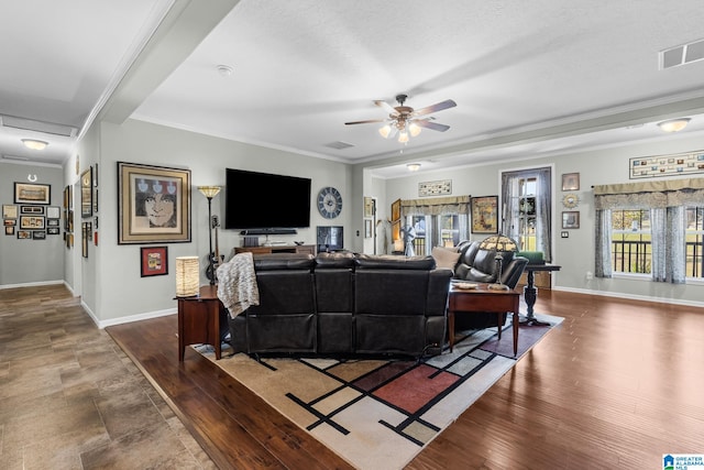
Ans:
MULTIPOLYGON (((471 283, 474 284, 474 283, 471 283)), ((496 311, 498 318, 498 339, 502 338, 502 316, 510 311, 514 316, 514 356, 518 353, 518 308, 520 293, 516 289, 496 291, 488 288, 488 284, 480 283, 476 288, 458 288, 450 284, 450 299, 448 307, 448 328, 450 351, 454 347, 454 315, 472 311, 496 311)))

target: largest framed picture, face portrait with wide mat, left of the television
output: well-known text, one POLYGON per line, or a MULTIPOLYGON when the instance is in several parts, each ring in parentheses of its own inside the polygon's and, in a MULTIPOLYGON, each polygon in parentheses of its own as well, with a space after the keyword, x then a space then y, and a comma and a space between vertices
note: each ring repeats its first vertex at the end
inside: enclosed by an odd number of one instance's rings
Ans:
POLYGON ((190 170, 118 162, 118 244, 190 242, 190 170))

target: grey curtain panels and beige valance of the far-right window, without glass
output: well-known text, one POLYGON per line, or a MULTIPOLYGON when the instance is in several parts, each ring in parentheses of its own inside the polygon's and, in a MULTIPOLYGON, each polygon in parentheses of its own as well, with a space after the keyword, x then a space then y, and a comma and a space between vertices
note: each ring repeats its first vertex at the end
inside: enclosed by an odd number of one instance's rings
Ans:
POLYGON ((650 209, 652 280, 683 284, 686 276, 684 208, 701 206, 703 200, 704 178, 594 186, 596 275, 610 277, 610 210, 650 209), (604 260, 604 253, 608 253, 608 259, 604 260))

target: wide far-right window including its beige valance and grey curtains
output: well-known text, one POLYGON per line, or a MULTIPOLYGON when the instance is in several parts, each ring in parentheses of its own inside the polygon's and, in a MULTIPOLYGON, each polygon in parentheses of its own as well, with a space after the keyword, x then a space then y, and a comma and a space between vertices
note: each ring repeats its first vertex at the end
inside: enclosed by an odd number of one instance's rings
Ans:
POLYGON ((704 178, 594 186, 595 274, 704 278, 704 178))

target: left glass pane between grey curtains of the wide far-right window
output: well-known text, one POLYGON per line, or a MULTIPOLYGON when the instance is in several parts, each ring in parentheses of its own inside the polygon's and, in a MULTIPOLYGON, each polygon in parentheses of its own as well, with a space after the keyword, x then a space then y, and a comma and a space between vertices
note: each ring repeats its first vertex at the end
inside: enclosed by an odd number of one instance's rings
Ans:
POLYGON ((650 209, 612 211, 612 269, 616 273, 650 274, 650 209))

